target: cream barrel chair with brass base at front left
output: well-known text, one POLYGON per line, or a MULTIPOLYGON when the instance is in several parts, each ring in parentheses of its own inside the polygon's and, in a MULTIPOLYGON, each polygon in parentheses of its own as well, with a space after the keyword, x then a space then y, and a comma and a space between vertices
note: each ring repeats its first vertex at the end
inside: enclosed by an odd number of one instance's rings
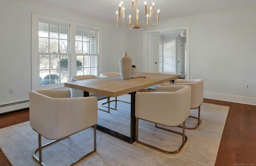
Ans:
POLYGON ((30 126, 38 133, 33 158, 42 166, 42 148, 89 127, 94 127, 94 150, 72 162, 76 164, 96 152, 97 98, 70 98, 69 90, 34 90, 29 93, 30 126), (54 140, 42 146, 41 136, 54 140), (36 152, 39 150, 39 156, 36 152))

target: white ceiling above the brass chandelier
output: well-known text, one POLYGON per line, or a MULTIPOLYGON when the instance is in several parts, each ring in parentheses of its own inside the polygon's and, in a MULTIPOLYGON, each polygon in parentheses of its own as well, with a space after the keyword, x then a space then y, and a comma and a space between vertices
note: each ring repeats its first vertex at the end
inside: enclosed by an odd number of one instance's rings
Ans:
MULTIPOLYGON (((116 10, 121 0, 27 0, 51 8, 89 16, 106 21, 116 21, 116 10)), ((126 8, 126 16, 131 11, 132 0, 122 0, 126 8)), ((234 10, 238 8, 256 7, 256 0, 146 0, 148 11, 152 2, 154 16, 160 10, 160 20, 234 10)), ((135 4, 136 0, 134 0, 135 4)), ((135 7, 134 7, 135 8, 135 7)), ((144 13, 144 0, 138 0, 138 9, 144 13)), ((140 14, 142 16, 142 14, 140 14)))

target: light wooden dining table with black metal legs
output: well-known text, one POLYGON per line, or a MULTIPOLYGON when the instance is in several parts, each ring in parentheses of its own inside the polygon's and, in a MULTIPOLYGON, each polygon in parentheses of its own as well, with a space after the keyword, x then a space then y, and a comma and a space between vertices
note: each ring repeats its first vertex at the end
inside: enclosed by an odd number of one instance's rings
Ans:
POLYGON ((120 76, 93 78, 64 83, 65 87, 74 88, 84 91, 84 97, 89 96, 89 92, 101 94, 109 97, 117 97, 124 94, 131 95, 131 113, 130 113, 130 137, 108 129, 104 126, 97 125, 96 128, 104 133, 112 135, 128 143, 134 143, 136 137, 136 117, 135 117, 135 94, 136 91, 162 84, 171 80, 180 78, 178 74, 160 74, 160 73, 139 73, 138 76, 145 78, 130 78, 122 80, 120 76))

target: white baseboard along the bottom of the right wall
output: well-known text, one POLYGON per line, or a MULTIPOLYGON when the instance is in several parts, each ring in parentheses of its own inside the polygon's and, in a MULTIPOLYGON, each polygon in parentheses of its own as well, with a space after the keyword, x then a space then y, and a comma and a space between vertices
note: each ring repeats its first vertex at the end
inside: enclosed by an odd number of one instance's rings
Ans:
POLYGON ((242 96, 231 96, 231 95, 212 94, 212 93, 204 92, 204 98, 213 99, 213 100, 221 100, 221 101, 225 101, 225 102, 256 105, 256 98, 247 98, 247 97, 242 97, 242 96))

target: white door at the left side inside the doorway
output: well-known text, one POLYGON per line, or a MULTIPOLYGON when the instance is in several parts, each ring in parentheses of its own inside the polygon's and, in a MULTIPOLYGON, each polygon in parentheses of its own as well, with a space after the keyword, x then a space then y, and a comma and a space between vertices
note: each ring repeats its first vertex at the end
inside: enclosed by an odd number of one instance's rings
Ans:
POLYGON ((148 35, 148 72, 157 72, 156 36, 148 35))

